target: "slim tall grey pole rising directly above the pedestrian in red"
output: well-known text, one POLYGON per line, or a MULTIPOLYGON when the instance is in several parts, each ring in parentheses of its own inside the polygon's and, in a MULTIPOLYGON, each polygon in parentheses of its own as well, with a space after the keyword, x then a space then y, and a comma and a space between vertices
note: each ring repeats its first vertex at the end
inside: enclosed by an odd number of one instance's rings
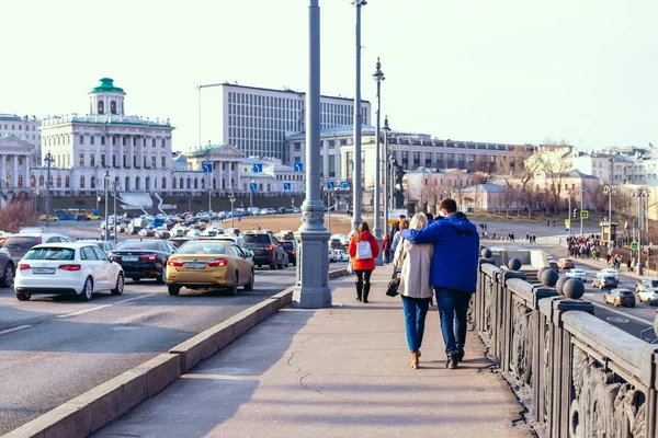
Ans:
POLYGON ((356 231, 361 223, 361 8, 367 4, 366 0, 352 0, 356 8, 356 68, 354 91, 354 183, 352 229, 356 231))

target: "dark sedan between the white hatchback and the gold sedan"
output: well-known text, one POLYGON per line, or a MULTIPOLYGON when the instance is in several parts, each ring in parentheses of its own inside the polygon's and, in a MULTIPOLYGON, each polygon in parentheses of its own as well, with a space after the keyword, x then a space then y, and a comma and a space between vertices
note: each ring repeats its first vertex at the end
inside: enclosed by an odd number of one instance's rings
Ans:
POLYGON ((167 280, 167 260, 175 252, 175 246, 163 240, 129 239, 121 242, 110 253, 110 258, 117 262, 125 276, 133 281, 143 278, 155 278, 157 283, 167 280))

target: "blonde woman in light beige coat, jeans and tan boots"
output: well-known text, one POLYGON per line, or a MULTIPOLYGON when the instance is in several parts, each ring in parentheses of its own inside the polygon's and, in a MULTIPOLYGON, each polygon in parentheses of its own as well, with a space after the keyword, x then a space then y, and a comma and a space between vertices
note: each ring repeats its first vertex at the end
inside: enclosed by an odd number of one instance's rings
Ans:
MULTIPOLYGON (((426 227, 428 227, 428 219, 422 212, 415 215, 409 224, 412 230, 420 230, 426 227)), ((433 295, 430 275, 434 245, 431 243, 411 243, 404 240, 400 246, 402 247, 400 258, 396 260, 396 264, 402 268, 398 292, 405 308, 407 343, 411 351, 410 367, 416 369, 420 358, 424 321, 433 295)))

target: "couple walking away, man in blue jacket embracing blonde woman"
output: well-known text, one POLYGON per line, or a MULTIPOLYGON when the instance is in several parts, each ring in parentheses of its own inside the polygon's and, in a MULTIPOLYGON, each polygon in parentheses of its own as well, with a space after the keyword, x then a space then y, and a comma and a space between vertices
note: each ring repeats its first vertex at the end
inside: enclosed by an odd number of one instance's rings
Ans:
MULTIPOLYGON (((442 217, 429 226, 427 217, 417 214, 409 228, 400 229, 401 247, 394 260, 394 268, 401 267, 398 292, 405 309, 411 368, 419 367, 432 289, 445 343, 445 367, 457 368, 464 358, 466 313, 477 281, 479 235, 466 215, 457 211, 453 199, 443 199, 439 211, 442 217)), ((370 273, 367 278, 370 290, 370 273)))

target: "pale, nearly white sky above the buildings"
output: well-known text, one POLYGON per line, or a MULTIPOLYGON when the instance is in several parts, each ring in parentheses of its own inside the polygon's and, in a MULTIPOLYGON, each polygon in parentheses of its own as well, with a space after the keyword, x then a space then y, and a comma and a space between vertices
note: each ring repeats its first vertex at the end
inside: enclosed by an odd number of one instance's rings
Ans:
MULTIPOLYGON (((658 143, 655 0, 371 0, 363 99, 394 129, 589 148, 658 143)), ((354 8, 320 0, 322 94, 354 94, 354 8)), ((12 1, 0 4, 0 113, 87 113, 111 77, 128 114, 169 117, 197 142, 195 87, 307 89, 307 0, 12 1)), ((204 114, 217 91, 204 90, 204 114)), ((216 101, 218 105, 218 100, 216 101)), ((204 117, 203 142, 218 141, 204 117)))

